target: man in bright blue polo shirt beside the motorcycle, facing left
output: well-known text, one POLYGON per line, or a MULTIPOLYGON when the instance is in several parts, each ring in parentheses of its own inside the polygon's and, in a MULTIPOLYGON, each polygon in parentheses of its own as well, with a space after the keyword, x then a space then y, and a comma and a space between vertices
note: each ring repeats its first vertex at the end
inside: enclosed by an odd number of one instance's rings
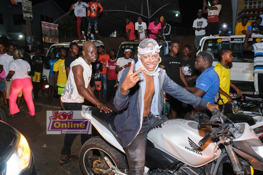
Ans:
MULTIPOLYGON (((215 95, 219 91, 220 79, 212 63, 214 54, 211 51, 205 50, 196 56, 195 67, 201 71, 201 75, 196 78, 196 87, 185 87, 186 90, 201 97, 202 100, 207 100, 211 104, 215 104, 215 95)), ((203 109, 194 106, 195 109, 203 109)), ((206 110, 206 109, 204 109, 206 110)))

